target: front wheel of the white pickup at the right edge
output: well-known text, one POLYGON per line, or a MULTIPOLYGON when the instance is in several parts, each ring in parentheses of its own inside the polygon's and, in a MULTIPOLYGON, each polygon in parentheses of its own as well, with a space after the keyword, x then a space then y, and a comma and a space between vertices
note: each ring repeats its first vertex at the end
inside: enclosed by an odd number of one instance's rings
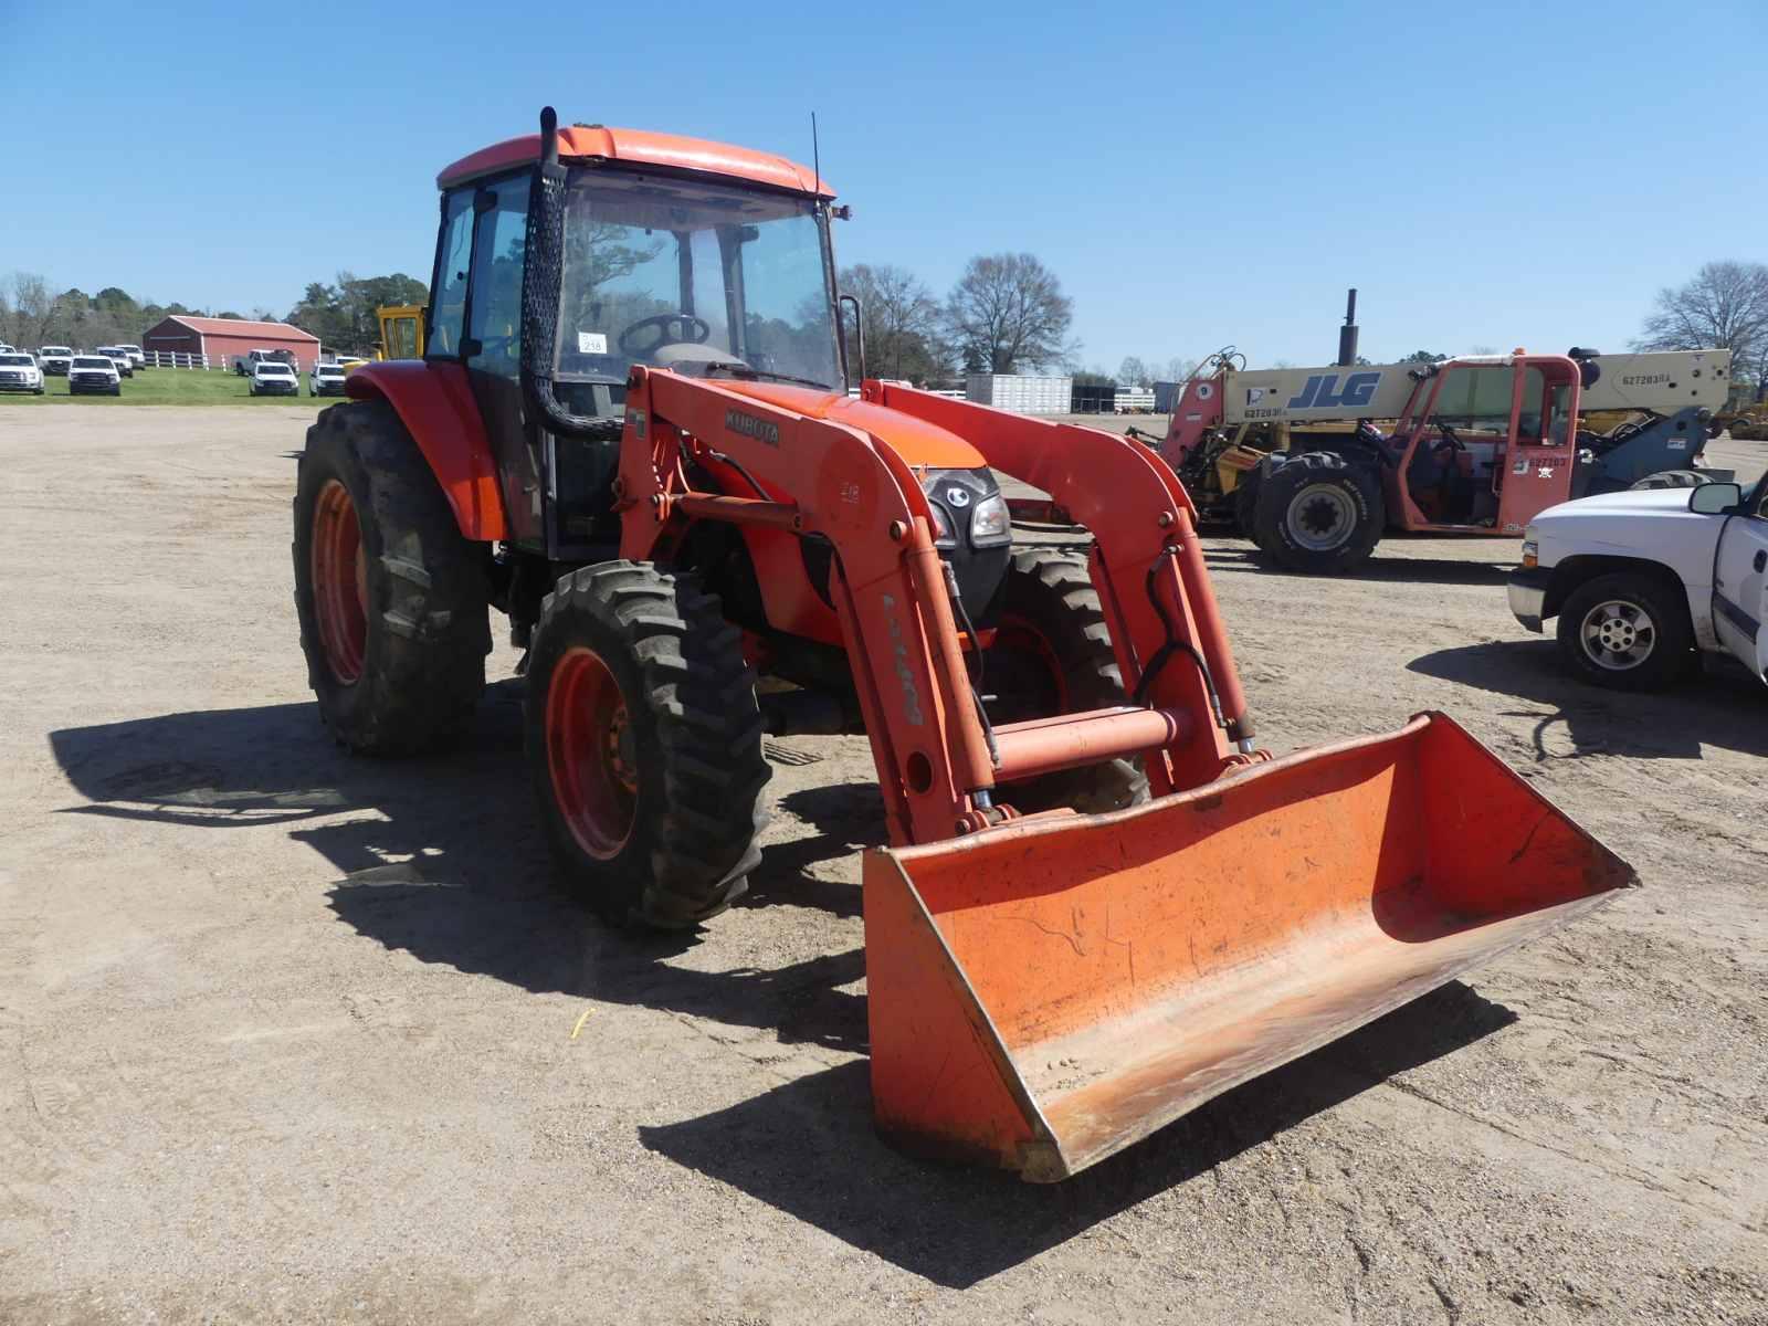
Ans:
POLYGON ((1655 691, 1688 670, 1694 628, 1681 592, 1634 571, 1597 576, 1559 608, 1559 652, 1584 681, 1655 691))

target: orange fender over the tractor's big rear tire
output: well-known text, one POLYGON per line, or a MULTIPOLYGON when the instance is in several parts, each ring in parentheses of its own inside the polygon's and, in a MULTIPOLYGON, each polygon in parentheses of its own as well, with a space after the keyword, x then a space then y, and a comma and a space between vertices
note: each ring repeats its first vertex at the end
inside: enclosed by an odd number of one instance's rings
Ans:
POLYGON ((497 461, 465 368, 389 359, 355 370, 343 389, 350 400, 384 400, 394 408, 442 484, 461 534, 479 543, 509 536, 497 461))

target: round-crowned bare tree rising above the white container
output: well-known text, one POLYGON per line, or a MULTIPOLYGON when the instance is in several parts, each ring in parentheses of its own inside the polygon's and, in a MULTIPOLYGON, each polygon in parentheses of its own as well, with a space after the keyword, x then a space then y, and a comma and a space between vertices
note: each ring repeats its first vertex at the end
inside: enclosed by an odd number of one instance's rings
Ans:
POLYGON ((1066 361, 1075 304, 1029 253, 971 258, 946 299, 946 324, 967 362, 1017 373, 1066 361))

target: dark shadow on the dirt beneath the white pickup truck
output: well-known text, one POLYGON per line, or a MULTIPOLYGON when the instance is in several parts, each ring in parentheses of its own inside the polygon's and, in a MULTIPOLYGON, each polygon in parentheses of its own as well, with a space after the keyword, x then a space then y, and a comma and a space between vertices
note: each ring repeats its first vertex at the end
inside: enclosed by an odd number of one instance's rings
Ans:
POLYGON ((1768 691, 1729 658, 1706 656, 1699 675, 1655 695, 1607 691, 1572 677, 1552 640, 1457 645, 1406 667, 1536 705, 1501 713, 1535 720, 1529 739, 1538 760, 1697 760, 1703 746, 1768 755, 1768 691))

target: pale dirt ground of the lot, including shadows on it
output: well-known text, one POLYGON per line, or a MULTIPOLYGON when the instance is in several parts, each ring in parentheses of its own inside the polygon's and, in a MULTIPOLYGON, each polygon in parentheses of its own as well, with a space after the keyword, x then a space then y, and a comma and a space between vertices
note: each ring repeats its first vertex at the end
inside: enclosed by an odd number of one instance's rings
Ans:
POLYGON ((518 682, 446 758, 332 748, 309 417, 0 412, 0 1321, 1768 1322, 1741 670, 1570 682, 1513 543, 1317 582, 1211 541, 1266 744, 1444 709, 1644 886, 1029 1186, 872 1133, 865 743, 769 744, 767 861, 674 941, 550 886, 518 682))

